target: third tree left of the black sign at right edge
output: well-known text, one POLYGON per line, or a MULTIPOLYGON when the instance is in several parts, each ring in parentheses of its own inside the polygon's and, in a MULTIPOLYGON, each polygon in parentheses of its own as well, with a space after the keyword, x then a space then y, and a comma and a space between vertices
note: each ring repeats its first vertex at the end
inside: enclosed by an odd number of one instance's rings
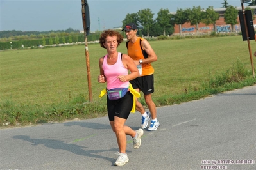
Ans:
POLYGON ((191 13, 189 15, 189 22, 191 24, 191 26, 196 26, 196 32, 198 33, 198 24, 201 22, 201 20, 203 19, 203 12, 201 10, 201 7, 195 7, 193 6, 191 13))

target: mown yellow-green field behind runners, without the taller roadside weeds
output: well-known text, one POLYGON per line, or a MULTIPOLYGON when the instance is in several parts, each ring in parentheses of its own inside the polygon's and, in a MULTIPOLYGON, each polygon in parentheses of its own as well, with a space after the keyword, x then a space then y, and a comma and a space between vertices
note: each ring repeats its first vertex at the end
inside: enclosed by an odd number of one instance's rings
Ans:
MULTIPOLYGON (((223 72, 241 60, 252 70, 247 42, 241 36, 150 41, 158 60, 153 100, 198 89, 210 75, 223 72)), ((256 43, 251 42, 252 52, 256 43)), ((119 52, 126 53, 125 43, 119 52)), ((98 59, 106 50, 89 44, 93 101, 105 84, 99 84, 98 59)), ((253 63, 255 66, 255 57, 253 63)), ((22 105, 67 103, 84 97, 89 101, 84 45, 0 52, 1 98, 22 105)), ((0 110, 1 111, 1 110, 0 110)))

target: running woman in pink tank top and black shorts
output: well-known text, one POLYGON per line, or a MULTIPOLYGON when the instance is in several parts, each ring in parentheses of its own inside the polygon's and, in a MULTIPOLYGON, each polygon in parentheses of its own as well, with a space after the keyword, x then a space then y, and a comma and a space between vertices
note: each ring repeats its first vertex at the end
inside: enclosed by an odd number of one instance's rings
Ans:
POLYGON ((99 58, 98 82, 107 82, 108 119, 119 146, 117 153, 119 157, 115 161, 115 166, 123 166, 129 161, 126 154, 126 135, 132 137, 133 148, 137 149, 141 146, 141 137, 144 133, 141 128, 135 131, 124 125, 133 107, 133 94, 131 89, 128 90, 129 81, 139 76, 139 70, 132 58, 127 54, 117 52, 117 47, 121 42, 123 42, 123 36, 110 29, 103 31, 99 38, 99 43, 107 50, 107 54, 99 58), (125 95, 122 95, 123 92, 125 95))

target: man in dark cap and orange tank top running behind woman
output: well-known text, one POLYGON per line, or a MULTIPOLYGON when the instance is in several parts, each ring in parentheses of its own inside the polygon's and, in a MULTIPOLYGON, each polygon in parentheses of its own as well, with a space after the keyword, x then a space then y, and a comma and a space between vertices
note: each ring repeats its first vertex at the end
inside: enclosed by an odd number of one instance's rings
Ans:
POLYGON ((152 118, 149 131, 157 130, 160 123, 157 120, 157 109, 152 100, 154 93, 154 68, 152 62, 157 61, 157 55, 147 40, 137 36, 137 26, 133 23, 124 26, 125 35, 128 39, 126 47, 135 65, 139 68, 140 76, 130 81, 133 88, 144 93, 144 99, 148 105, 149 112, 146 112, 141 102, 136 100, 136 110, 141 112, 141 128, 148 127, 148 121, 152 118))

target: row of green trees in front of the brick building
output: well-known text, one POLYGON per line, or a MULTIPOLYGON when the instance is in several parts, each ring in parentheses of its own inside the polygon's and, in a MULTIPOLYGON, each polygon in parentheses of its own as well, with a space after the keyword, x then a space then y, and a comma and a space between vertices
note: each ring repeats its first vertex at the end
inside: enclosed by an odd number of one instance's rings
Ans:
MULTIPOLYGON (((249 6, 256 5, 255 0, 249 4, 249 6)), ((224 19, 226 24, 230 24, 233 26, 238 24, 237 16, 239 10, 237 10, 234 6, 228 5, 228 2, 225 0, 223 4, 223 8, 226 8, 224 19)), ((251 10, 250 7, 245 8, 244 10, 251 10)), ((254 10, 252 11, 252 16, 254 19, 254 10)), ((153 19, 153 13, 149 8, 139 10, 137 13, 128 13, 124 20, 122 21, 123 27, 133 22, 137 24, 137 26, 143 27, 142 35, 144 36, 158 36, 160 35, 171 35, 174 31, 173 27, 175 24, 182 25, 185 23, 190 23, 191 26, 196 26, 197 32, 198 24, 204 23, 206 26, 213 24, 214 30, 216 32, 216 21, 219 19, 219 13, 214 11, 212 6, 209 6, 206 10, 201 8, 200 6, 193 6, 193 8, 178 8, 176 13, 170 13, 168 8, 161 8, 157 13, 157 18, 153 19), (160 31, 162 31, 160 33, 160 31)), ((181 27, 180 27, 180 35, 181 35, 181 27)))

